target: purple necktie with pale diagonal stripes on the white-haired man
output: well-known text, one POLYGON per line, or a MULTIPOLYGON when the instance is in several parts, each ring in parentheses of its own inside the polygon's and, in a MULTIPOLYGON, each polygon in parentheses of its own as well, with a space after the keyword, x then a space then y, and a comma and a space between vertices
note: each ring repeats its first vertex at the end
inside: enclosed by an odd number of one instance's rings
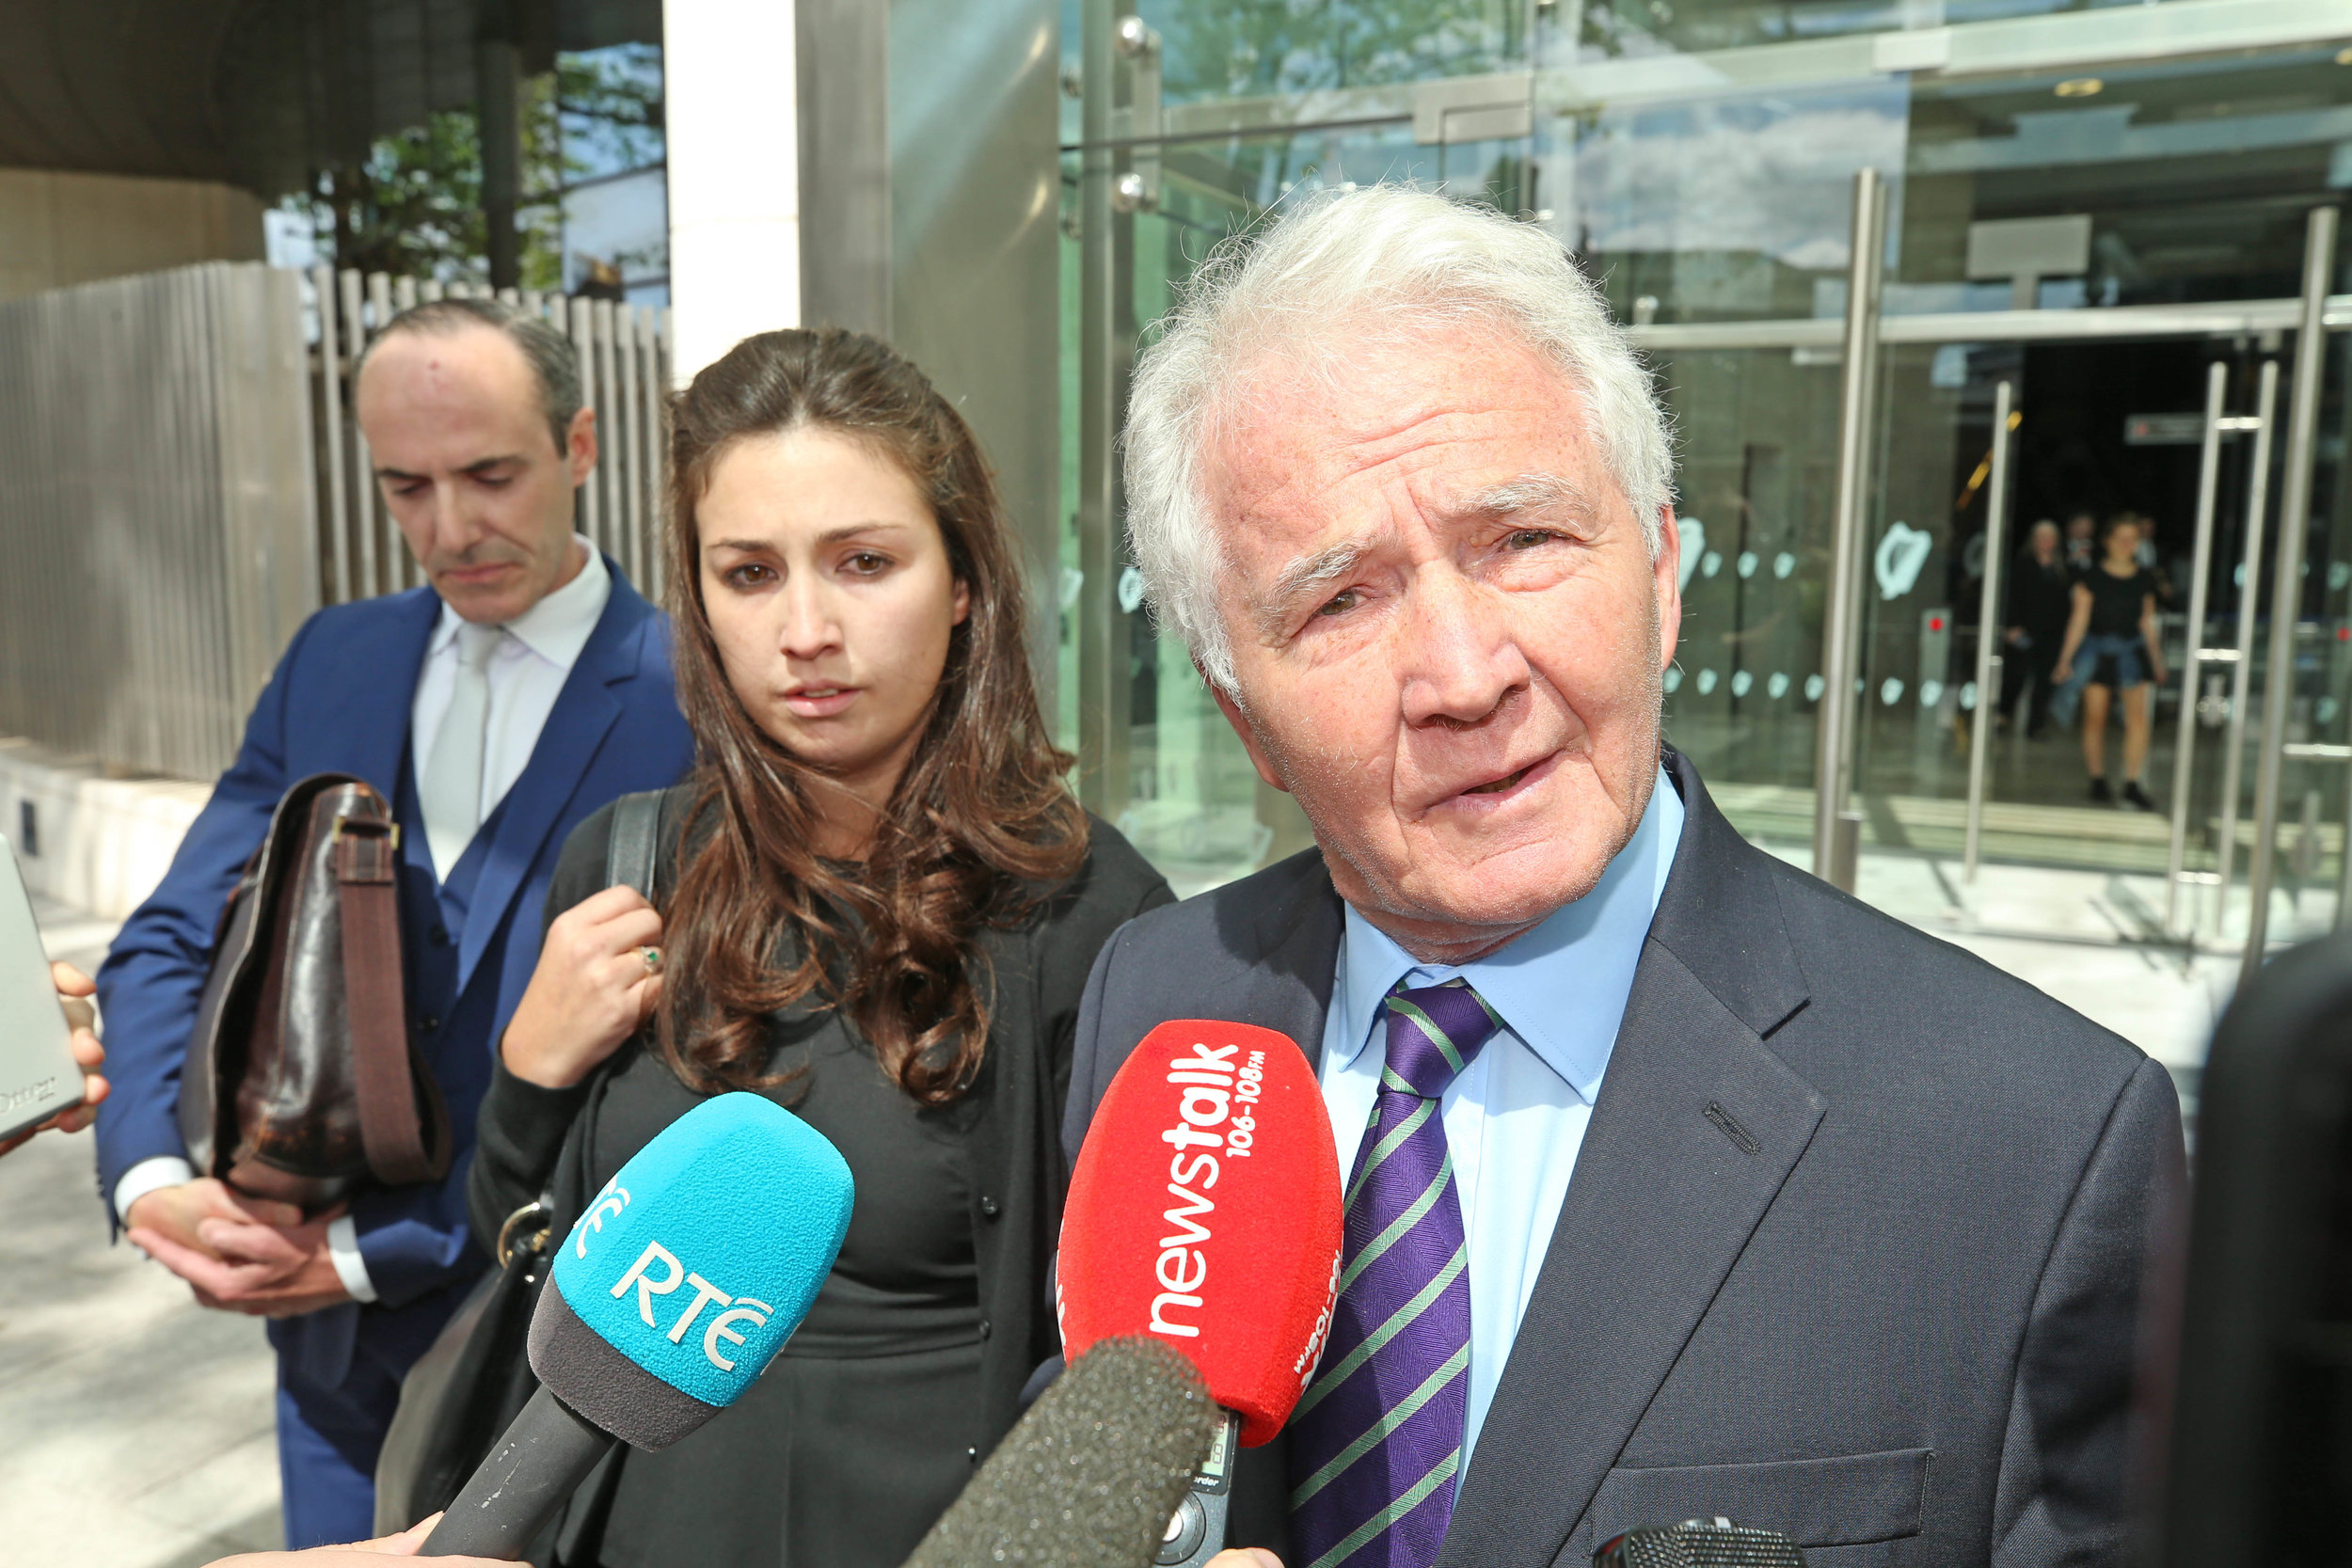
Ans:
POLYGON ((1428 1568, 1446 1537, 1470 1410, 1470 1248, 1437 1100, 1498 1025, 1463 980, 1388 994, 1331 1340, 1289 1427, 1303 1568, 1428 1568))

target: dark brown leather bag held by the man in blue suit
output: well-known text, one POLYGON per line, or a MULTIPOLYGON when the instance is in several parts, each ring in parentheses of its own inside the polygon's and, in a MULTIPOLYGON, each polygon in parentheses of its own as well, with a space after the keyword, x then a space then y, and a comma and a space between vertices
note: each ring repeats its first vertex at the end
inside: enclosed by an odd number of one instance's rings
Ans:
POLYGON ((400 825, 360 778, 285 792, 228 896, 179 1084, 198 1175, 308 1211, 449 1171, 449 1112, 409 1046, 400 825))

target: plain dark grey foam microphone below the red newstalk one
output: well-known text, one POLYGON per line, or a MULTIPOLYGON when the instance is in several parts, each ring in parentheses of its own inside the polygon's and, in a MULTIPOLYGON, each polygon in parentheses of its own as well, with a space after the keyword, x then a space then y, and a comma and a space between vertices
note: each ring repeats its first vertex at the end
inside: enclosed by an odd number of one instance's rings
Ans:
POLYGON ((1101 1340, 997 1443, 903 1568, 1148 1568, 1223 1420, 1167 1345, 1101 1340))

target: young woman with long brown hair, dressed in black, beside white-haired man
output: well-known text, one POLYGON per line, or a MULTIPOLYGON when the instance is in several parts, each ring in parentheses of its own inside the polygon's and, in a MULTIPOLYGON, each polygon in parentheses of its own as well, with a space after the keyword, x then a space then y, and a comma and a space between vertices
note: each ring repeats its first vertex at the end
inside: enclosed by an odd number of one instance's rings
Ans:
POLYGON ((1054 1354, 1061 1103, 1103 940, 1169 889, 1063 785, 995 484, 880 341, 746 339, 673 404, 668 599, 699 769, 656 900, 564 846, 501 1041, 477 1234, 557 1222, 703 1095, 849 1159, 816 1307, 729 1410, 574 1497, 572 1568, 891 1568, 1054 1354), (569 1145, 564 1143, 569 1135, 569 1145))

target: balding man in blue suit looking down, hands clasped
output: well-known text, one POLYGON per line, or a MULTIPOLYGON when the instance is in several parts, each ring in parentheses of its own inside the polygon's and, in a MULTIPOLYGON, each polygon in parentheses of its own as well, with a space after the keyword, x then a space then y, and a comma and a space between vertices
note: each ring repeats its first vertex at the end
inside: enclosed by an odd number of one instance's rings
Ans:
POLYGON ((419 306, 376 339, 355 407, 430 588, 303 623, 99 973, 113 1065, 101 1197, 200 1302, 270 1319, 294 1547, 374 1535, 400 1378, 482 1269, 466 1227, 473 1117, 539 959, 564 837, 694 757, 661 614, 572 531, 597 456, 572 346, 487 301, 419 306), (221 905, 278 797, 310 773, 355 773, 395 804, 409 1037, 459 1150, 440 1182, 318 1215, 191 1180, 176 1119, 221 905))

